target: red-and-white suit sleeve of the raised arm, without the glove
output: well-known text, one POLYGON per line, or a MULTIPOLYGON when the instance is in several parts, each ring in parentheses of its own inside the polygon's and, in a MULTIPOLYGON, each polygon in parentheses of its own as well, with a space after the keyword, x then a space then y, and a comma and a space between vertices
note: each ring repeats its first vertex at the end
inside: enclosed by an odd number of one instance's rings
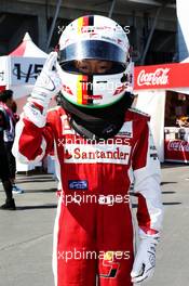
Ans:
POLYGON ((52 128, 48 121, 44 127, 39 128, 23 114, 16 123, 12 152, 18 161, 36 164, 53 150, 53 142, 52 128))

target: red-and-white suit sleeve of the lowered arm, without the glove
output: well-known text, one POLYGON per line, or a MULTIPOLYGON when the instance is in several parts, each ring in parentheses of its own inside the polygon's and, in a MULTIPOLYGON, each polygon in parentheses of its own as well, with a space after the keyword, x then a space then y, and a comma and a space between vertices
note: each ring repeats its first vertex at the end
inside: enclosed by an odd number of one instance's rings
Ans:
POLYGON ((133 154, 134 192, 138 197, 139 236, 158 234, 162 225, 160 161, 149 122, 144 125, 133 154))

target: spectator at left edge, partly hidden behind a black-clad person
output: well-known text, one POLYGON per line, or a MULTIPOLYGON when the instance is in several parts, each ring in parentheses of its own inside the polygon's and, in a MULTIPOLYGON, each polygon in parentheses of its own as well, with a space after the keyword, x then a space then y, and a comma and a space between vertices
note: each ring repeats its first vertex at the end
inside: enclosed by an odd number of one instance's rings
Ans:
POLYGON ((15 194, 22 194, 24 193, 24 191, 15 184, 16 160, 12 154, 12 146, 15 136, 15 125, 17 121, 16 117, 14 116, 14 112, 12 110, 12 107, 13 109, 16 108, 15 102, 13 101, 13 91, 12 90, 2 91, 0 94, 0 101, 3 102, 6 106, 6 113, 9 115, 9 121, 10 121, 10 129, 4 130, 4 145, 5 145, 8 161, 10 166, 12 191, 15 194))

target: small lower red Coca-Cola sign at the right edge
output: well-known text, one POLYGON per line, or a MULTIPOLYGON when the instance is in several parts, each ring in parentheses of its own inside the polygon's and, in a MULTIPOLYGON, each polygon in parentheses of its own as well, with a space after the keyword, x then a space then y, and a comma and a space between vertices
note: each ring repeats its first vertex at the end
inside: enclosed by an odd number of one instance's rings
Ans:
POLYGON ((165 160, 189 162, 189 142, 165 140, 165 160))

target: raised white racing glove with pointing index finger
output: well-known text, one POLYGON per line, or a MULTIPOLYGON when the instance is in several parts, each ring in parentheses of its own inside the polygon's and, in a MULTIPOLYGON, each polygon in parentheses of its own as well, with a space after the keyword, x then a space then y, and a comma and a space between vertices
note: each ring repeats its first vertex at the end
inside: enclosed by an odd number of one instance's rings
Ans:
POLYGON ((62 87, 62 80, 57 75, 57 53, 51 52, 24 107, 25 117, 40 128, 45 125, 46 110, 51 99, 57 94, 62 87))

